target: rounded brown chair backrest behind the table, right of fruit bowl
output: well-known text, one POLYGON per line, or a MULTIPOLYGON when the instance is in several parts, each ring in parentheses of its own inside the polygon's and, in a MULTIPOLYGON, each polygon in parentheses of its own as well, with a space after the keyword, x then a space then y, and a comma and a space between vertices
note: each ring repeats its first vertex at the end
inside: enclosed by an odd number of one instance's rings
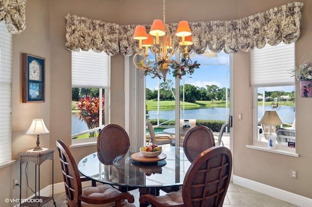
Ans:
POLYGON ((197 155, 214 146, 214 134, 207 126, 193 127, 186 133, 183 140, 185 155, 191 162, 197 155))

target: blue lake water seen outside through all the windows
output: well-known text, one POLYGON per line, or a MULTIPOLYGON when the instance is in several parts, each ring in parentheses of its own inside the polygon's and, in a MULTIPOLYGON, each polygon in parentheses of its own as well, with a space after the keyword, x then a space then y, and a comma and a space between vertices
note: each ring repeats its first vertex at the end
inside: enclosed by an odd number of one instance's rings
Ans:
MULTIPOLYGON (((259 111, 262 111, 262 107, 258 108, 259 111)), ((265 110, 272 110, 271 106, 266 106, 265 110)), ((277 110, 277 114, 283 123, 292 123, 294 119, 293 106, 281 106, 277 110)), ((199 120, 221 120, 228 121, 228 117, 225 115, 226 108, 198 108, 198 109, 185 109, 184 118, 181 116, 181 119, 199 119, 199 120)), ((150 110, 148 115, 149 119, 157 119, 157 111, 150 110)), ((258 120, 260 120, 262 114, 259 114, 258 120)), ((175 109, 170 110, 161 110, 159 119, 173 120, 175 119, 175 109)), ((79 121, 79 118, 75 116, 75 113, 72 114, 72 134, 76 134, 82 131, 88 130, 88 127, 84 121, 79 121)))

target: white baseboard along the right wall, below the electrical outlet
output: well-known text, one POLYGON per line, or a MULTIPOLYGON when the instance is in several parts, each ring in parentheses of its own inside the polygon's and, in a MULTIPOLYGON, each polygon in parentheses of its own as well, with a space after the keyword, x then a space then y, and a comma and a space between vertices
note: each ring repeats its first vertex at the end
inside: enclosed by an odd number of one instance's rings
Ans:
POLYGON ((292 192, 274 188, 243 177, 233 175, 233 183, 266 195, 274 195, 275 198, 297 205, 299 207, 312 207, 312 199, 292 192))

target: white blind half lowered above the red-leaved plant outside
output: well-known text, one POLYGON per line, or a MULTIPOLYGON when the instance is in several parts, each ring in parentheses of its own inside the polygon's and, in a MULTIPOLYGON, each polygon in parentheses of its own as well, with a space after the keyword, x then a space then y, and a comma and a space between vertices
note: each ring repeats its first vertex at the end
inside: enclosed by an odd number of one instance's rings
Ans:
POLYGON ((108 88, 109 68, 105 52, 72 52, 72 87, 108 88))

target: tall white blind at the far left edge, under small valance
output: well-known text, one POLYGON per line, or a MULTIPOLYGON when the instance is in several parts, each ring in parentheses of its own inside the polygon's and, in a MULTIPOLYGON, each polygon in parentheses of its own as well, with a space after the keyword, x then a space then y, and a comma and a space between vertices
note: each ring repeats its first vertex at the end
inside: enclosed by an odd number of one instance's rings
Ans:
POLYGON ((12 35, 0 22, 0 166, 11 160, 12 35))

